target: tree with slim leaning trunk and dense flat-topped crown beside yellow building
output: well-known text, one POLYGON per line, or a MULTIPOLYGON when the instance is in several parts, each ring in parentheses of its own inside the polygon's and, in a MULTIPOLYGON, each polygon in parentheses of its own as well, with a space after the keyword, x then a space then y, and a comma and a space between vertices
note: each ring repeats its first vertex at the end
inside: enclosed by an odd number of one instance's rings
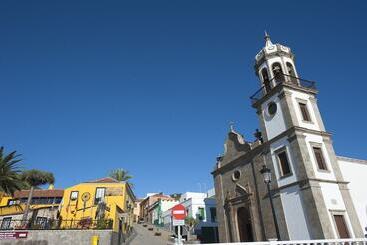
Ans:
POLYGON ((31 204, 33 191, 36 187, 44 184, 54 184, 55 183, 55 177, 50 172, 45 172, 37 169, 31 169, 27 171, 23 171, 21 173, 21 179, 27 183, 30 186, 29 194, 28 194, 28 200, 26 207, 24 209, 23 219, 22 223, 23 225, 27 221, 28 212, 29 212, 29 206, 31 204))

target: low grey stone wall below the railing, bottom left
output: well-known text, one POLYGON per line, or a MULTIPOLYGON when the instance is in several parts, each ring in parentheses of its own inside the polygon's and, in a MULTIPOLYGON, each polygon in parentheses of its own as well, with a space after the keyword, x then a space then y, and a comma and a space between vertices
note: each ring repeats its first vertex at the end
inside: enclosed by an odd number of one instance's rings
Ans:
POLYGON ((99 236, 99 244, 117 245, 118 234, 112 230, 30 230, 28 237, 16 240, 0 240, 1 245, 90 245, 93 236, 99 236))

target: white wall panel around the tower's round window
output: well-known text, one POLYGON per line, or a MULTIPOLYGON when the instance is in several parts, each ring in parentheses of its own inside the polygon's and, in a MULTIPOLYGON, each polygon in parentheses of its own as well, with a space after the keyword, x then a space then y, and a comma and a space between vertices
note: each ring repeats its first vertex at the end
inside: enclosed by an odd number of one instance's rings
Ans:
POLYGON ((261 110, 264 117, 266 135, 268 137, 268 140, 274 138, 275 136, 286 130, 283 111, 280 106, 280 99, 278 98, 278 94, 275 94, 265 103, 263 103, 261 106, 261 110), (277 112, 273 116, 269 115, 268 113, 268 104, 270 102, 274 102, 277 105, 277 112))

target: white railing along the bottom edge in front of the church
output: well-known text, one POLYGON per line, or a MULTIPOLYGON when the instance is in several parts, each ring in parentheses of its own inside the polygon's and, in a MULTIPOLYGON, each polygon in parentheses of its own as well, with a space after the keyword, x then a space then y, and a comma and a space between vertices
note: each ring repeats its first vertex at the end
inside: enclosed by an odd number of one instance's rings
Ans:
POLYGON ((331 239, 331 240, 294 240, 294 241, 264 241, 264 242, 235 242, 217 243, 231 245, 366 245, 366 238, 331 239))

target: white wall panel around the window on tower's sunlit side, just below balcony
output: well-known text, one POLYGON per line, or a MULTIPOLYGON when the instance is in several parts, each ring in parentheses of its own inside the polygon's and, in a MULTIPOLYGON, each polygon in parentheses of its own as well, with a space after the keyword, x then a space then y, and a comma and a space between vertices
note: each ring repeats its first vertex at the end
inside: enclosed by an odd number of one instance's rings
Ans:
POLYGON ((320 126, 317 123, 315 111, 314 111, 314 109, 311 105, 311 102, 310 102, 310 97, 311 96, 309 94, 302 93, 302 92, 299 92, 299 91, 294 91, 294 90, 288 90, 288 91, 292 93, 292 102, 293 102, 293 106, 295 108, 296 117, 298 119, 299 126, 304 127, 304 128, 308 128, 308 129, 313 129, 313 130, 320 131, 320 126), (303 121, 302 114, 301 114, 301 109, 299 108, 299 100, 307 102, 307 109, 308 109, 308 112, 309 112, 310 117, 311 117, 311 122, 304 122, 303 121))

